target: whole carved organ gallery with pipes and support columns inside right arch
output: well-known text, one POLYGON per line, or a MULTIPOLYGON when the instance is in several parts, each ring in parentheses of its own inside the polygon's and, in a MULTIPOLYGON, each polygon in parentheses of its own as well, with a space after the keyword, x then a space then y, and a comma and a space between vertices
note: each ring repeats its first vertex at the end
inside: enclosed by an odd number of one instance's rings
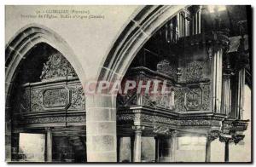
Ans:
MULTIPOLYGON (((238 48, 244 48, 245 38, 240 38, 238 48)), ((249 120, 242 118, 246 51, 230 53, 234 41, 227 32, 179 37, 166 45, 168 52, 155 53, 160 47, 154 40, 157 37, 145 44, 122 80, 137 84, 117 97, 119 137, 131 137, 133 162, 141 161, 137 143, 142 136, 156 139, 155 161, 176 162, 176 138, 204 136, 209 162, 211 141, 238 143, 247 130, 249 120), (157 143, 171 143, 164 146, 170 147, 168 153, 157 143)))

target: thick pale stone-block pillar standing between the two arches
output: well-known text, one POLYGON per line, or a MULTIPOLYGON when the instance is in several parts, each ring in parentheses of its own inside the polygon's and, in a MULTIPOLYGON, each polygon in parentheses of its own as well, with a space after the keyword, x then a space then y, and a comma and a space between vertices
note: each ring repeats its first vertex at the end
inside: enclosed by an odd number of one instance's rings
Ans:
POLYGON ((116 96, 86 96, 88 162, 117 162, 116 96))

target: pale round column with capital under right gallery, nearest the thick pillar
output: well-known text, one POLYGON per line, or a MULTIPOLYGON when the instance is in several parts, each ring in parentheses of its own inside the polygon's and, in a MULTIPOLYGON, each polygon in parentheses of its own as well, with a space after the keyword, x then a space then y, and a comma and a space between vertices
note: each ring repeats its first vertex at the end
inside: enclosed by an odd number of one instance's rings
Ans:
POLYGON ((133 162, 141 162, 143 126, 134 126, 133 162))

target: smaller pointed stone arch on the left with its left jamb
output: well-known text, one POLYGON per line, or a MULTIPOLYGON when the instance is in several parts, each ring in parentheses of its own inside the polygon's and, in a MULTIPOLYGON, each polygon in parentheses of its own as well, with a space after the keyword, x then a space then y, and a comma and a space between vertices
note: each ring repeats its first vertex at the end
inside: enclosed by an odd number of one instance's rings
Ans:
POLYGON ((15 36, 10 39, 5 48, 6 161, 11 161, 11 104, 9 98, 12 93, 12 85, 15 82, 20 65, 26 60, 26 53, 38 43, 47 43, 49 46, 58 50, 73 66, 79 76, 80 82, 83 83, 85 80, 83 68, 76 59, 73 49, 56 32, 37 24, 27 25, 16 32, 15 36))

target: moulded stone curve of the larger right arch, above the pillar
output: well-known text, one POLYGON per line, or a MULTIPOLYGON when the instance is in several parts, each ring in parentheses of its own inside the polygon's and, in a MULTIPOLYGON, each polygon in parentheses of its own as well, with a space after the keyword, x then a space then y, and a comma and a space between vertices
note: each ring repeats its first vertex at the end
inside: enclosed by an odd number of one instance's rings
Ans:
POLYGON ((143 44, 183 8, 182 5, 150 5, 138 9, 104 57, 98 80, 114 82, 123 78, 143 44))

